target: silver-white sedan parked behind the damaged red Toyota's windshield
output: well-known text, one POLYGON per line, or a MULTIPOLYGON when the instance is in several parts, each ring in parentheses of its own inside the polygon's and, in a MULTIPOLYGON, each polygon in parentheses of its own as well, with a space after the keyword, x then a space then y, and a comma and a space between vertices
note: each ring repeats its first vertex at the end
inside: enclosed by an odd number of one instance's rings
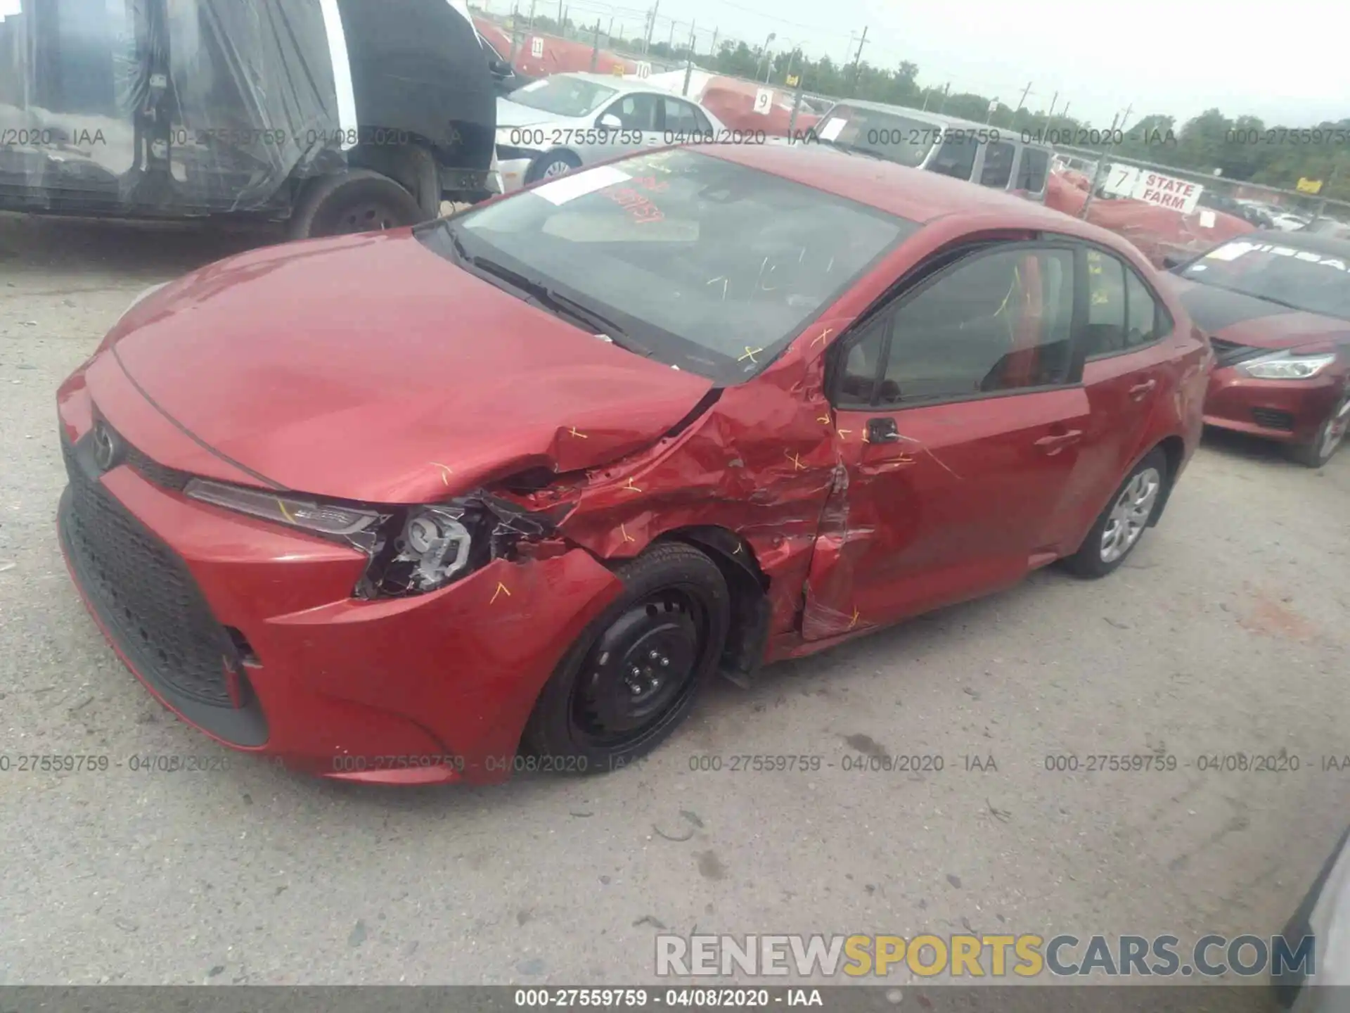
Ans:
POLYGON ((713 139, 725 130, 695 101, 640 80, 552 74, 497 100, 504 192, 640 147, 713 139))

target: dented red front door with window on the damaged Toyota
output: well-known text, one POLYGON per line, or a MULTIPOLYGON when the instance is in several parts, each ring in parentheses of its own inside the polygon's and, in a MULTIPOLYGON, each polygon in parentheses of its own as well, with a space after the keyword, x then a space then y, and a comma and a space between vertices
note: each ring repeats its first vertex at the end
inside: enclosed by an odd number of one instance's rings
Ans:
POLYGON ((1073 265, 1066 247, 975 253, 845 335, 806 639, 1008 586, 1053 540, 1088 430, 1073 265))

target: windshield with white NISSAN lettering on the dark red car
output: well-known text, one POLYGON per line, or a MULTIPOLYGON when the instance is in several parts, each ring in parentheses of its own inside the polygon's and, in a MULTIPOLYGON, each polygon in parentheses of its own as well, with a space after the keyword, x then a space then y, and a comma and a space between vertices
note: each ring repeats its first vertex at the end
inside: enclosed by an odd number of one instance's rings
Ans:
POLYGON ((1350 255, 1235 239, 1184 267, 1181 277, 1350 320, 1350 255))

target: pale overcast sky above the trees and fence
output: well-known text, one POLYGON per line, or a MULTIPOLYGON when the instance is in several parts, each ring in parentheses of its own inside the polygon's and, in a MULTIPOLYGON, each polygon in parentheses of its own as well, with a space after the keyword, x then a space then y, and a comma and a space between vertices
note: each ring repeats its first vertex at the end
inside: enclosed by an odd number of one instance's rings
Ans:
MULTIPOLYGON (((521 11, 529 0, 517 0, 521 11)), ((563 0, 574 22, 617 9, 630 35, 641 31, 649 0, 563 0)), ((798 42, 813 57, 852 59, 849 32, 868 28, 863 57, 895 66, 909 59, 919 82, 996 95, 1008 105, 1031 82, 1027 105, 1056 108, 1106 127, 1133 105, 1130 120, 1149 112, 1185 119, 1218 105, 1228 116, 1250 113, 1268 123, 1307 126, 1350 116, 1350 3, 1216 3, 1216 0, 659 0, 656 41, 674 18, 774 47, 798 42), (1284 18, 1281 14, 1287 12, 1284 18)), ((556 0, 537 0, 556 16, 556 0)), ((509 11, 510 0, 490 0, 509 11)), ((617 24, 616 24, 617 30, 617 24)))

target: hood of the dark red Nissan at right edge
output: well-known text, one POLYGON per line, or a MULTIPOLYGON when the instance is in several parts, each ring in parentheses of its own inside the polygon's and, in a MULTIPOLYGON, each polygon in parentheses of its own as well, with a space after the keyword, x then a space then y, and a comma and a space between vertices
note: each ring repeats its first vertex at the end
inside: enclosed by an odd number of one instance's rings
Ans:
POLYGON ((1350 320, 1289 309, 1241 292, 1164 276, 1196 327, 1226 342, 1251 348, 1295 348, 1350 340, 1350 320))

